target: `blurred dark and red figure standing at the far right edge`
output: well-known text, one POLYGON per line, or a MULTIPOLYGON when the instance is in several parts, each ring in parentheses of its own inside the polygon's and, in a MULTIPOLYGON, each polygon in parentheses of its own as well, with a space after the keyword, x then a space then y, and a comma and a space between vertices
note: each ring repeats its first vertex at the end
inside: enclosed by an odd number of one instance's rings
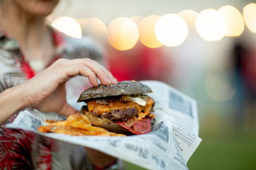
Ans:
MULTIPOLYGON (((246 121, 253 127, 256 121, 256 52, 242 42, 233 46, 233 74, 236 93, 235 127, 242 128, 246 121)), ((247 124, 247 123, 246 123, 247 124)))

